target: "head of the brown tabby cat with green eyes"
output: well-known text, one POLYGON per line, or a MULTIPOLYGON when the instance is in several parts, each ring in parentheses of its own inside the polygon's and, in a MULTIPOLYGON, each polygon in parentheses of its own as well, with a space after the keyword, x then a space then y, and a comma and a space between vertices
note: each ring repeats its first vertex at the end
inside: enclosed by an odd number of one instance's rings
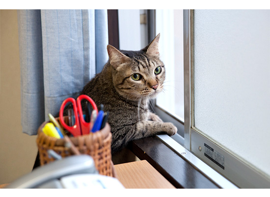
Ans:
POLYGON ((159 58, 159 39, 160 34, 139 51, 119 51, 108 45, 113 85, 124 98, 155 98, 162 91, 165 68, 159 58))

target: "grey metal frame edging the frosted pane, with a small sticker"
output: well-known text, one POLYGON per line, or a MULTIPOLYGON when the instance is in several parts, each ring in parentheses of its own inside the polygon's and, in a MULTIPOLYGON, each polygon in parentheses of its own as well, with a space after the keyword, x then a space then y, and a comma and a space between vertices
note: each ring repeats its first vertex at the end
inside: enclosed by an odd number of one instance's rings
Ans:
POLYGON ((194 10, 184 10, 184 90, 184 147, 240 188, 269 188, 270 180, 263 172, 259 172, 226 147, 216 144, 211 137, 194 126, 194 10), (207 158, 204 154, 205 144, 222 154, 229 168, 222 169, 207 158))

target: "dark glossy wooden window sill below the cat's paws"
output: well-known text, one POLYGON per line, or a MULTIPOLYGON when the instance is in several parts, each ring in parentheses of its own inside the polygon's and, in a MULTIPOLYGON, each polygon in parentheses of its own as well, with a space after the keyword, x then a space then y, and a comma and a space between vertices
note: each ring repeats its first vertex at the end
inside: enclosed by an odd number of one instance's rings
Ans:
POLYGON ((134 140, 128 148, 140 160, 148 161, 176 188, 220 188, 156 136, 134 140))

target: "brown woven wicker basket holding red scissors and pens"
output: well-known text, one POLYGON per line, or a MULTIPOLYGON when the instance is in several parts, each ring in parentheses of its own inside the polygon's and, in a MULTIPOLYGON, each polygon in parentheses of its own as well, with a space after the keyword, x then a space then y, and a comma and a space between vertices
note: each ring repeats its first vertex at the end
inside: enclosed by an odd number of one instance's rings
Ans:
MULTIPOLYGON (((55 119, 61 125, 59 118, 55 119)), ((64 121, 67 123, 68 117, 64 117, 64 121)), ((48 154, 49 149, 54 150, 57 154, 61 155, 61 157, 75 154, 71 148, 65 146, 66 141, 64 139, 47 136, 42 131, 46 123, 49 122, 42 123, 38 128, 38 136, 36 139, 41 166, 54 161, 54 158, 48 154)), ((106 123, 105 127, 100 131, 69 137, 69 139, 81 154, 88 154, 94 159, 95 167, 100 174, 116 177, 115 169, 111 161, 111 132, 108 123, 106 123)))

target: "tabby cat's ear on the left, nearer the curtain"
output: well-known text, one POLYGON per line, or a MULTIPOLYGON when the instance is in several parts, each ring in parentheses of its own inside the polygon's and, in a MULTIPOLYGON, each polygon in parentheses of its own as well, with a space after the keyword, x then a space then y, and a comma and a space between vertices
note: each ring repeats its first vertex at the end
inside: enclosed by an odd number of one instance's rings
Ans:
POLYGON ((107 50, 109 56, 109 63, 114 69, 116 69, 121 64, 127 63, 130 60, 128 56, 124 55, 111 45, 107 46, 107 50))

